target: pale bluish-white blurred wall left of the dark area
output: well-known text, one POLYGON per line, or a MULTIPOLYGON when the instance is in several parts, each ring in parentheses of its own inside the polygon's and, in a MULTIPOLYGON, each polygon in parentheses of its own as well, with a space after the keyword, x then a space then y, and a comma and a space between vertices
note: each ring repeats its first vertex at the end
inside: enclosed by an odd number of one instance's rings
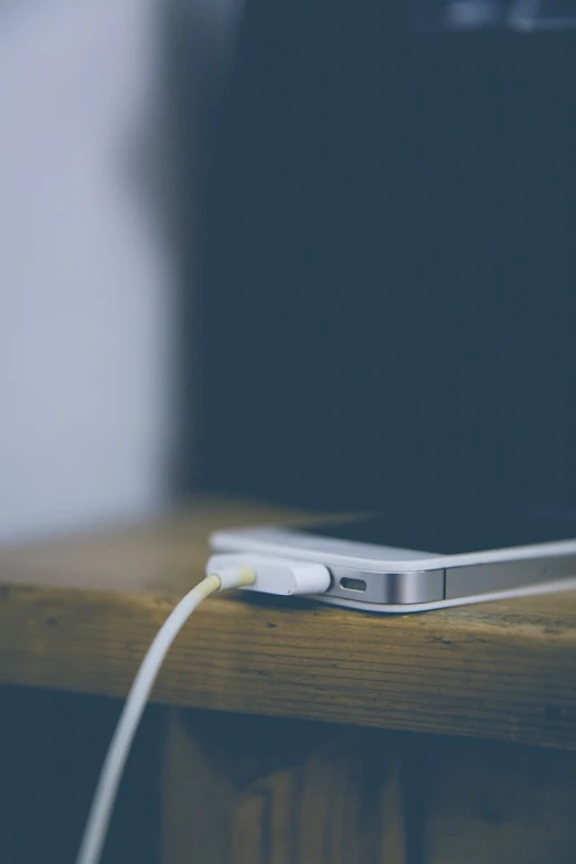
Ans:
POLYGON ((163 500, 170 262, 129 170, 156 15, 0 6, 0 540, 163 500))

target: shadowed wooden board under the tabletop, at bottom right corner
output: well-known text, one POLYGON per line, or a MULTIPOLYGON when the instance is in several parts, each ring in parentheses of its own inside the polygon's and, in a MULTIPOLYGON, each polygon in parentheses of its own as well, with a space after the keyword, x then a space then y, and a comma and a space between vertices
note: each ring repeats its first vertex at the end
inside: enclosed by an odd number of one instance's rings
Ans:
POLYGON ((434 747, 426 864, 576 861, 574 754, 486 742, 434 747))

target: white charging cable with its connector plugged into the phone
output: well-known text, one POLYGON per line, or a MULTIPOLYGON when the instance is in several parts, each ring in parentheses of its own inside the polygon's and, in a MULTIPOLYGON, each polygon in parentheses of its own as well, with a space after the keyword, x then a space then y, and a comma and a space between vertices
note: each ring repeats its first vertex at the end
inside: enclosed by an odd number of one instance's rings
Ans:
POLYGON ((170 646, 202 600, 228 588, 254 587, 266 594, 290 595, 319 594, 330 585, 330 574, 321 564, 258 558, 252 567, 223 555, 209 562, 209 569, 211 574, 170 612, 137 672, 104 760, 76 864, 98 864, 100 860, 118 787, 146 703, 170 646))

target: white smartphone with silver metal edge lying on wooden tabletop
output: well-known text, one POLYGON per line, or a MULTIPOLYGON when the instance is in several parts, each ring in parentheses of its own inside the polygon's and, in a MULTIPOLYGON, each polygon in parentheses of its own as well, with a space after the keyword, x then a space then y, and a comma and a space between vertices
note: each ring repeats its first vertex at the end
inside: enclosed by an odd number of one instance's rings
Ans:
POLYGON ((321 563, 331 584, 316 599, 373 612, 576 588, 570 510, 394 508, 320 524, 221 531, 211 548, 221 566, 222 556, 247 566, 263 555, 321 563))

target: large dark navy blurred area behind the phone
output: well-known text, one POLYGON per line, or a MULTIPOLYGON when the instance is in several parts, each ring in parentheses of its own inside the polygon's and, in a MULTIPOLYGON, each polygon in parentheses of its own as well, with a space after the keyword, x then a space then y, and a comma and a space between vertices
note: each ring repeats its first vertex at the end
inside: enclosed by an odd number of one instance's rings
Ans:
POLYGON ((575 34, 413 13, 247 3, 202 140, 184 490, 576 503, 575 34))

